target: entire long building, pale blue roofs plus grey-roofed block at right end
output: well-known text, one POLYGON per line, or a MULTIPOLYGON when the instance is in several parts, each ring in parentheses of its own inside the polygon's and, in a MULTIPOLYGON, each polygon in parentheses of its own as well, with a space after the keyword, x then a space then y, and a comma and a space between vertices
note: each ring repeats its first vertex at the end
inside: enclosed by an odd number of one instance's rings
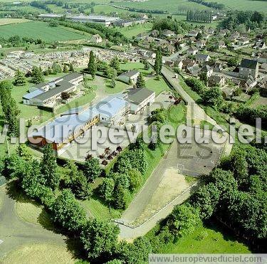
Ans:
POLYGON ((32 132, 28 140, 33 147, 51 143, 56 154, 62 154, 74 139, 95 125, 108 127, 120 124, 128 113, 142 112, 155 102, 155 92, 147 88, 131 89, 127 93, 112 95, 90 107, 75 107, 63 112, 52 122, 32 132))

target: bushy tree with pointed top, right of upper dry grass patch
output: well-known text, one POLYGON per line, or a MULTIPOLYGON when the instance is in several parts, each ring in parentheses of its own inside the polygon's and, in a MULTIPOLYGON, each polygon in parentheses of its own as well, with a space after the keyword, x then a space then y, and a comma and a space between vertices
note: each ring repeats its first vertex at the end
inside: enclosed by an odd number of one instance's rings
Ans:
POLYGON ((64 189, 51 206, 53 221, 73 233, 79 233, 86 221, 86 213, 75 196, 64 189))

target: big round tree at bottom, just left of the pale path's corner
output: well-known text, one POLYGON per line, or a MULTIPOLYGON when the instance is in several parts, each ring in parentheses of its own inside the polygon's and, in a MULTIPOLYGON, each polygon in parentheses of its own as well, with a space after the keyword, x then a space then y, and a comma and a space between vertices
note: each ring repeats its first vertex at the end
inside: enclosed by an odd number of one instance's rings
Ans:
POLYGON ((120 229, 115 224, 99 219, 90 219, 80 234, 88 258, 111 254, 117 245, 120 229))

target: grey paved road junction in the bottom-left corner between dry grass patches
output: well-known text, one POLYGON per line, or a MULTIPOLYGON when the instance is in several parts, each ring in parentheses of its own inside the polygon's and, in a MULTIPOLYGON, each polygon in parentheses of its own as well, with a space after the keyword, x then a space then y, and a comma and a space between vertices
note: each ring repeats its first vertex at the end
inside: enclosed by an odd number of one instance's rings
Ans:
MULTIPOLYGON (((48 231, 41 226, 21 221, 16 215, 15 201, 0 187, 0 260, 9 251, 29 243, 53 243, 66 245, 66 237, 48 231)), ((1 262, 1 261, 0 261, 1 262)))

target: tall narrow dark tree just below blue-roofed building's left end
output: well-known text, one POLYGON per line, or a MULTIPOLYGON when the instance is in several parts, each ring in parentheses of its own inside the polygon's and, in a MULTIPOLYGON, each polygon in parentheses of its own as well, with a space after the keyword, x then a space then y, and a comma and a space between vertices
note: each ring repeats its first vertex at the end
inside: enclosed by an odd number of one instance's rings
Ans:
POLYGON ((41 174, 46 180, 45 185, 55 190, 59 185, 60 175, 57 172, 58 165, 56 164, 56 157, 51 144, 46 144, 43 147, 43 158, 40 167, 41 174))

